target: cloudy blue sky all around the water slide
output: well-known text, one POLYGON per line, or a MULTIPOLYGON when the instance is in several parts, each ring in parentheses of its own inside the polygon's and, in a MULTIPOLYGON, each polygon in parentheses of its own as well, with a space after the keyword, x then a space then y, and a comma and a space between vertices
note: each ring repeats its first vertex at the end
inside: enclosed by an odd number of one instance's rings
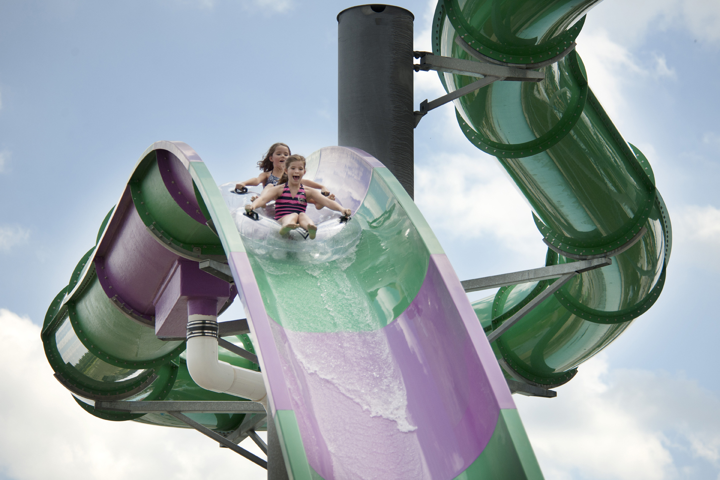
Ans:
MULTIPOLYGON (((415 14, 415 49, 430 50, 435 2, 396 4, 415 14)), ((261 478, 197 433, 86 415, 52 379, 37 325, 152 142, 188 143, 219 184, 254 176, 273 142, 302 154, 336 143, 336 15, 352 5, 0 3, 0 479, 261 478)), ((719 479, 720 4, 605 0, 577 43, 590 87, 652 163, 672 257, 660 301, 556 399, 516 402, 546 478, 719 479)), ((415 73, 415 104, 443 93, 415 73)), ((461 279, 544 261, 526 202, 451 105, 415 130, 415 169, 461 279)))

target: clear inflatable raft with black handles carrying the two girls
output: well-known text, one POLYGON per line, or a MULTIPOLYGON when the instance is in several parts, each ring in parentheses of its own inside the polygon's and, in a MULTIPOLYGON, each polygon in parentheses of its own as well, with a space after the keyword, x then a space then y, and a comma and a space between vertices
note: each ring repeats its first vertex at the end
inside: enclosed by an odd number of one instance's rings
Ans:
POLYGON ((314 205, 309 205, 306 213, 318 226, 315 240, 310 240, 302 228, 280 235, 280 224, 274 219, 274 202, 255 210, 258 220, 245 215, 245 205, 261 193, 260 187, 248 189, 246 194, 235 194, 235 183, 231 182, 222 184, 220 191, 245 248, 253 255, 292 263, 326 263, 351 253, 360 240, 362 228, 359 222, 352 219, 341 222, 340 212, 328 208, 318 210, 314 205))

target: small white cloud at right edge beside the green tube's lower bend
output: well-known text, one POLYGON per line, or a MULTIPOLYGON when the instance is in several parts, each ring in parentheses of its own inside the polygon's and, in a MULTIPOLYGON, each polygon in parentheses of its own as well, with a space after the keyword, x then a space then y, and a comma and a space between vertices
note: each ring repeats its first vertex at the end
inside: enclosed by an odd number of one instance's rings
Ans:
POLYGON ((684 205, 670 214, 672 255, 701 268, 720 269, 720 209, 684 205))

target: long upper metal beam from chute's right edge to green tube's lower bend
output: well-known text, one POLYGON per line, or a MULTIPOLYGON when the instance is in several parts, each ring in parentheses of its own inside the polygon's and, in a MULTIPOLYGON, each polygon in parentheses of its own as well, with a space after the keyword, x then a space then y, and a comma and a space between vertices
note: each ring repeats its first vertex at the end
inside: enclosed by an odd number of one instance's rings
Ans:
POLYGON ((503 275, 485 276, 481 279, 472 279, 462 281, 462 288, 465 291, 478 291, 486 289, 494 289, 498 286, 527 284, 531 281, 541 281, 549 279, 557 279, 570 272, 582 273, 595 268, 612 265, 611 258, 595 258, 593 260, 585 260, 573 263, 561 263, 559 265, 551 265, 541 268, 533 268, 532 270, 523 270, 513 273, 503 273, 503 275))

